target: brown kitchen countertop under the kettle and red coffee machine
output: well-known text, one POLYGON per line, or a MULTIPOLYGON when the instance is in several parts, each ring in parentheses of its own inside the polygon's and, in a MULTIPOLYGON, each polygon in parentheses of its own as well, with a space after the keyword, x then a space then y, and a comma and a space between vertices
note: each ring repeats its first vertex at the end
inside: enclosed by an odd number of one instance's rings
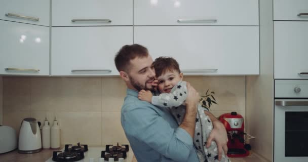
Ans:
MULTIPOLYGON (((46 161, 52 156, 54 150, 44 149, 41 152, 33 154, 20 154, 17 150, 9 153, 0 154, 0 161, 3 162, 32 162, 32 161, 46 161)), ((232 162, 267 162, 255 153, 247 157, 230 158, 232 162)), ((133 158, 132 162, 137 162, 136 158, 133 158)))

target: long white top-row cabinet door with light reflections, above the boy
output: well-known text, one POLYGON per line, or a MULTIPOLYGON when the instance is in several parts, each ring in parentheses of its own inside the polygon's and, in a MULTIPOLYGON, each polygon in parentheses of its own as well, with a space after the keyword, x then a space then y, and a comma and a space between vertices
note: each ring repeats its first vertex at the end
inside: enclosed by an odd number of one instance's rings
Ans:
POLYGON ((258 0, 134 0, 134 25, 258 25, 258 0))

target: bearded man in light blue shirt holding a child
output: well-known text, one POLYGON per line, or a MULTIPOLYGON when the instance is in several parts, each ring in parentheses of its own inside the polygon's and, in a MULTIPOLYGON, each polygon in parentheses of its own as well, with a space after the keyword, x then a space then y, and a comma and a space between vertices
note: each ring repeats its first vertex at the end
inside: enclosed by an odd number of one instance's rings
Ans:
MULTIPOLYGON (((121 123, 137 160, 199 161, 193 145, 199 99, 197 91, 187 84, 186 113, 178 126, 167 109, 138 99, 140 90, 153 90, 157 86, 155 70, 151 66, 153 60, 147 49, 137 44, 123 46, 114 62, 128 88, 121 123)), ((226 131, 211 113, 207 115, 214 127, 207 143, 212 140, 217 143, 220 160, 222 151, 227 151, 226 131)))

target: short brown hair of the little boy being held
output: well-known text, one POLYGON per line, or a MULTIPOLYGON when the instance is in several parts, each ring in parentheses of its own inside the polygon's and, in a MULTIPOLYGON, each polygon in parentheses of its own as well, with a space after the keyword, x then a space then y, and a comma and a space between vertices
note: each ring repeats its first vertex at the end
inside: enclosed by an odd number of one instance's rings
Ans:
POLYGON ((161 76, 167 71, 173 70, 176 70, 177 72, 181 73, 179 64, 172 57, 159 57, 155 59, 155 61, 152 63, 152 67, 154 67, 155 69, 156 77, 161 76))

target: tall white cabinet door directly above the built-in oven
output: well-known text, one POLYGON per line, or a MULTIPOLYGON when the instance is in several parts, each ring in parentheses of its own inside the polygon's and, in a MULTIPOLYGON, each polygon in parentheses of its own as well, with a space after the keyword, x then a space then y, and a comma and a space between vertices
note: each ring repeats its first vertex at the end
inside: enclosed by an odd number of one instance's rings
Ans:
POLYGON ((275 79, 308 78, 307 29, 305 21, 274 22, 275 79))

